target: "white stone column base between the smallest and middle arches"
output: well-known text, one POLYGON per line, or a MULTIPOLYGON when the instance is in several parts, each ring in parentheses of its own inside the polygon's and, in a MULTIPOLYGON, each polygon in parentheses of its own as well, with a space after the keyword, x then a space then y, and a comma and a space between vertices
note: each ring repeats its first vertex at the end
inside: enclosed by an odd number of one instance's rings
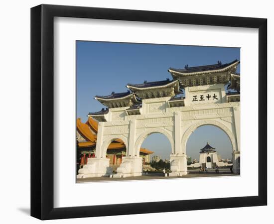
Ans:
POLYGON ((137 177, 142 175, 142 158, 141 157, 123 157, 121 165, 117 168, 117 174, 114 178, 137 177))

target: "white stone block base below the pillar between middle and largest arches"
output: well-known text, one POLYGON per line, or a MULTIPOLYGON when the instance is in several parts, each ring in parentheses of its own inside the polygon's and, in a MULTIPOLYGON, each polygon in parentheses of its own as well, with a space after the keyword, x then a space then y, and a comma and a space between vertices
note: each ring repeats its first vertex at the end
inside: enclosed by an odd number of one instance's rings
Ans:
POLYGON ((186 155, 170 155, 170 170, 171 173, 169 173, 169 177, 180 177, 187 175, 186 155))

